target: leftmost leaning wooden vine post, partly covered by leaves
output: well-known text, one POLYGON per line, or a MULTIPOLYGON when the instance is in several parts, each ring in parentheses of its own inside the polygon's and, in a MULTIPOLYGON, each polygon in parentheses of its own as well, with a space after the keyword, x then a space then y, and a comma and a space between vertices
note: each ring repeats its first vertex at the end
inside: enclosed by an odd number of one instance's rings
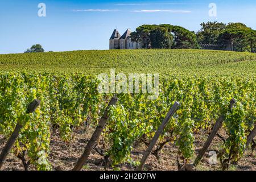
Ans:
MULTIPOLYGON (((36 108, 39 105, 40 105, 39 100, 34 100, 33 102, 31 102, 30 105, 28 105, 28 107, 27 107, 27 114, 34 113, 34 111, 36 110, 36 108)), ((15 129, 14 129, 13 133, 11 134, 11 137, 8 139, 7 143, 5 144, 5 147, 3 147, 3 150, 0 154, 0 169, 2 168, 3 162, 5 162, 5 159, 6 159, 7 155, 11 151, 11 148, 13 148, 14 143, 18 139, 19 131, 22 129, 22 127, 23 126, 18 121, 16 126, 15 126, 15 129)))

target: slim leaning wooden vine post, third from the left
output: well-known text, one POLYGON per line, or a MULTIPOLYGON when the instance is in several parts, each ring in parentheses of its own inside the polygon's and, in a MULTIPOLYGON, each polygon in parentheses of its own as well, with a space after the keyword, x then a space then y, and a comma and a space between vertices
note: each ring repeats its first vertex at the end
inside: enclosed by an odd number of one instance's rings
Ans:
POLYGON ((168 114, 166 115, 166 118, 164 118, 162 124, 159 126, 158 130, 156 131, 154 137, 152 138, 147 150, 144 152, 144 155, 141 159, 141 164, 139 165, 139 167, 136 169, 136 171, 142 171, 146 160, 148 158, 148 156, 150 155, 151 151, 153 150, 158 138, 160 137, 160 135, 163 133, 164 127, 166 127, 168 121, 170 120, 170 118, 172 117, 172 115, 174 115, 175 111, 177 110, 177 108, 179 107, 179 102, 175 102, 175 104, 171 107, 171 109, 169 110, 168 114))

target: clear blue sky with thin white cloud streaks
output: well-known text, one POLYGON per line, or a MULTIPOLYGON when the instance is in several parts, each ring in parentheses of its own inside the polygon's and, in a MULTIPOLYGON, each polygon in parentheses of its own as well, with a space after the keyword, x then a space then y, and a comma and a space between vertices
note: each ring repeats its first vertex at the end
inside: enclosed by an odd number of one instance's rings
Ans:
POLYGON ((256 29, 255 17, 255 0, 0 0, 0 53, 24 52, 36 43, 46 51, 108 49, 115 27, 122 34, 142 24, 197 31, 201 22, 217 20, 256 29), (38 16, 39 3, 46 4, 46 17, 38 16), (210 3, 216 3, 217 17, 208 15, 210 3))

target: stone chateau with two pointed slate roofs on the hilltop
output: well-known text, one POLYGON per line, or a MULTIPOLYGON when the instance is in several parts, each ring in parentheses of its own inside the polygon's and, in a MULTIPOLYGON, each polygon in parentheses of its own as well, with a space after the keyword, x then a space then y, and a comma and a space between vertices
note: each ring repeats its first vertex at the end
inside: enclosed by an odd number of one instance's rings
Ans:
POLYGON ((133 42, 131 40, 131 31, 127 29, 125 34, 121 36, 115 29, 109 39, 109 49, 139 49, 142 48, 142 43, 133 42))

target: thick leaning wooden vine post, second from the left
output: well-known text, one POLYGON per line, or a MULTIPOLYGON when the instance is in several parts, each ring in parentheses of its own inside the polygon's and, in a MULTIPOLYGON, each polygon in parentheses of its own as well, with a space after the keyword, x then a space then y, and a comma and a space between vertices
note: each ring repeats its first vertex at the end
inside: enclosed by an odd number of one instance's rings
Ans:
POLYGON ((93 150, 93 148, 96 146, 98 139, 100 138, 100 135, 106 125, 106 122, 109 119, 109 108, 110 106, 113 106, 117 104, 118 99, 113 97, 108 107, 106 108, 104 115, 100 119, 100 122, 98 123, 98 126, 96 127, 96 130, 94 131, 92 138, 90 138, 89 142, 87 143, 84 154, 82 154, 81 158, 77 161, 75 167, 72 169, 72 171, 80 171, 82 169, 82 166, 84 166, 86 160, 88 159, 90 152, 93 150))

